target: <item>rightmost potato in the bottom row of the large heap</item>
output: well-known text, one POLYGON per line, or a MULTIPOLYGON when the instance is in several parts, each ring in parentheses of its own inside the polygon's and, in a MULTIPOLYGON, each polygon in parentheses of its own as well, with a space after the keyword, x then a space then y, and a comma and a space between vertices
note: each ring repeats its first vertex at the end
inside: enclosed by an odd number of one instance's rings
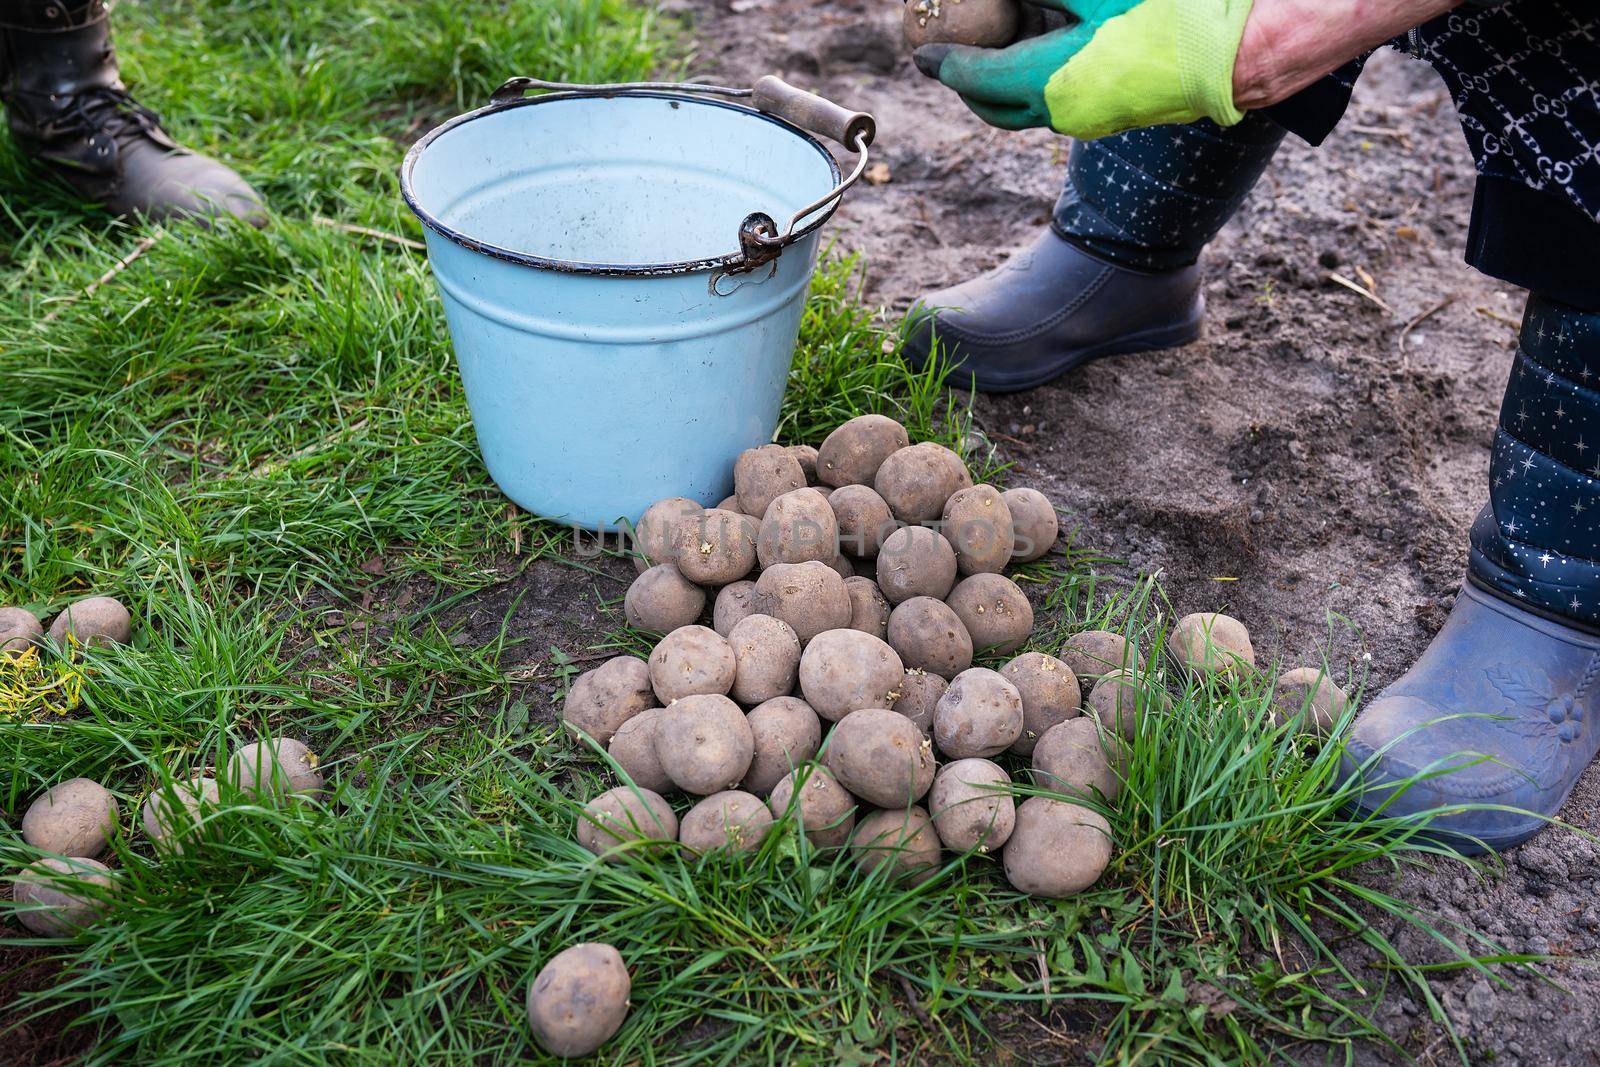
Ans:
POLYGON ((1005 843, 1005 877, 1022 893, 1082 893, 1109 862, 1110 824, 1098 811, 1051 797, 1029 797, 1016 809, 1016 829, 1005 843))

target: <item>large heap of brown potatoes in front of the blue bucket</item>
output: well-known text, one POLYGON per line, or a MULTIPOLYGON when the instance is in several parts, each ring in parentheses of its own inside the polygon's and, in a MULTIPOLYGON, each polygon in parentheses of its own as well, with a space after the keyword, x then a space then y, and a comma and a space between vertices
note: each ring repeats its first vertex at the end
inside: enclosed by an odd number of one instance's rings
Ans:
POLYGON ((584 805, 579 843, 608 859, 674 840, 754 849, 790 814, 816 849, 890 877, 926 880, 946 849, 998 851, 1026 893, 1093 885, 1110 827, 1070 797, 1115 798, 1118 736, 1082 717, 1064 659, 973 665, 1032 633, 1005 571, 1056 542, 1050 501, 974 485, 957 453, 877 414, 816 448, 752 448, 733 482, 717 507, 658 501, 635 526, 624 613, 661 637, 566 694, 565 723, 622 773, 584 805), (1059 795, 1019 800, 1002 753, 1059 795))

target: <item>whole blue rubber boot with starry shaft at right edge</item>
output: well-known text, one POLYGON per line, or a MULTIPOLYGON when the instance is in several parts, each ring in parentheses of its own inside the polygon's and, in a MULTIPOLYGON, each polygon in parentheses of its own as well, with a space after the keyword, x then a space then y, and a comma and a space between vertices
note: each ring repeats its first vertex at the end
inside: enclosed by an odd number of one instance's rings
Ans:
POLYGON ((1464 853, 1538 833, 1600 749, 1600 314, 1528 301, 1490 486, 1450 619, 1344 753, 1362 809, 1443 809, 1464 853))

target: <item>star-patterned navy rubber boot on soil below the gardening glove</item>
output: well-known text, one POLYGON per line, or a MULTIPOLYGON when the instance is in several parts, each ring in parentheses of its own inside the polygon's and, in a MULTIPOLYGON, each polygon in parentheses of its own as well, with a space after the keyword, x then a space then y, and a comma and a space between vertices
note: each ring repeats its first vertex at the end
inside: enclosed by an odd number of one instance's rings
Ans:
POLYGON ((1014 392, 1088 360, 1194 341, 1200 253, 1282 139, 1253 115, 1229 130, 1202 122, 1077 142, 1050 227, 995 270, 922 298, 907 314, 907 357, 922 365, 938 344, 954 384, 1014 392))

